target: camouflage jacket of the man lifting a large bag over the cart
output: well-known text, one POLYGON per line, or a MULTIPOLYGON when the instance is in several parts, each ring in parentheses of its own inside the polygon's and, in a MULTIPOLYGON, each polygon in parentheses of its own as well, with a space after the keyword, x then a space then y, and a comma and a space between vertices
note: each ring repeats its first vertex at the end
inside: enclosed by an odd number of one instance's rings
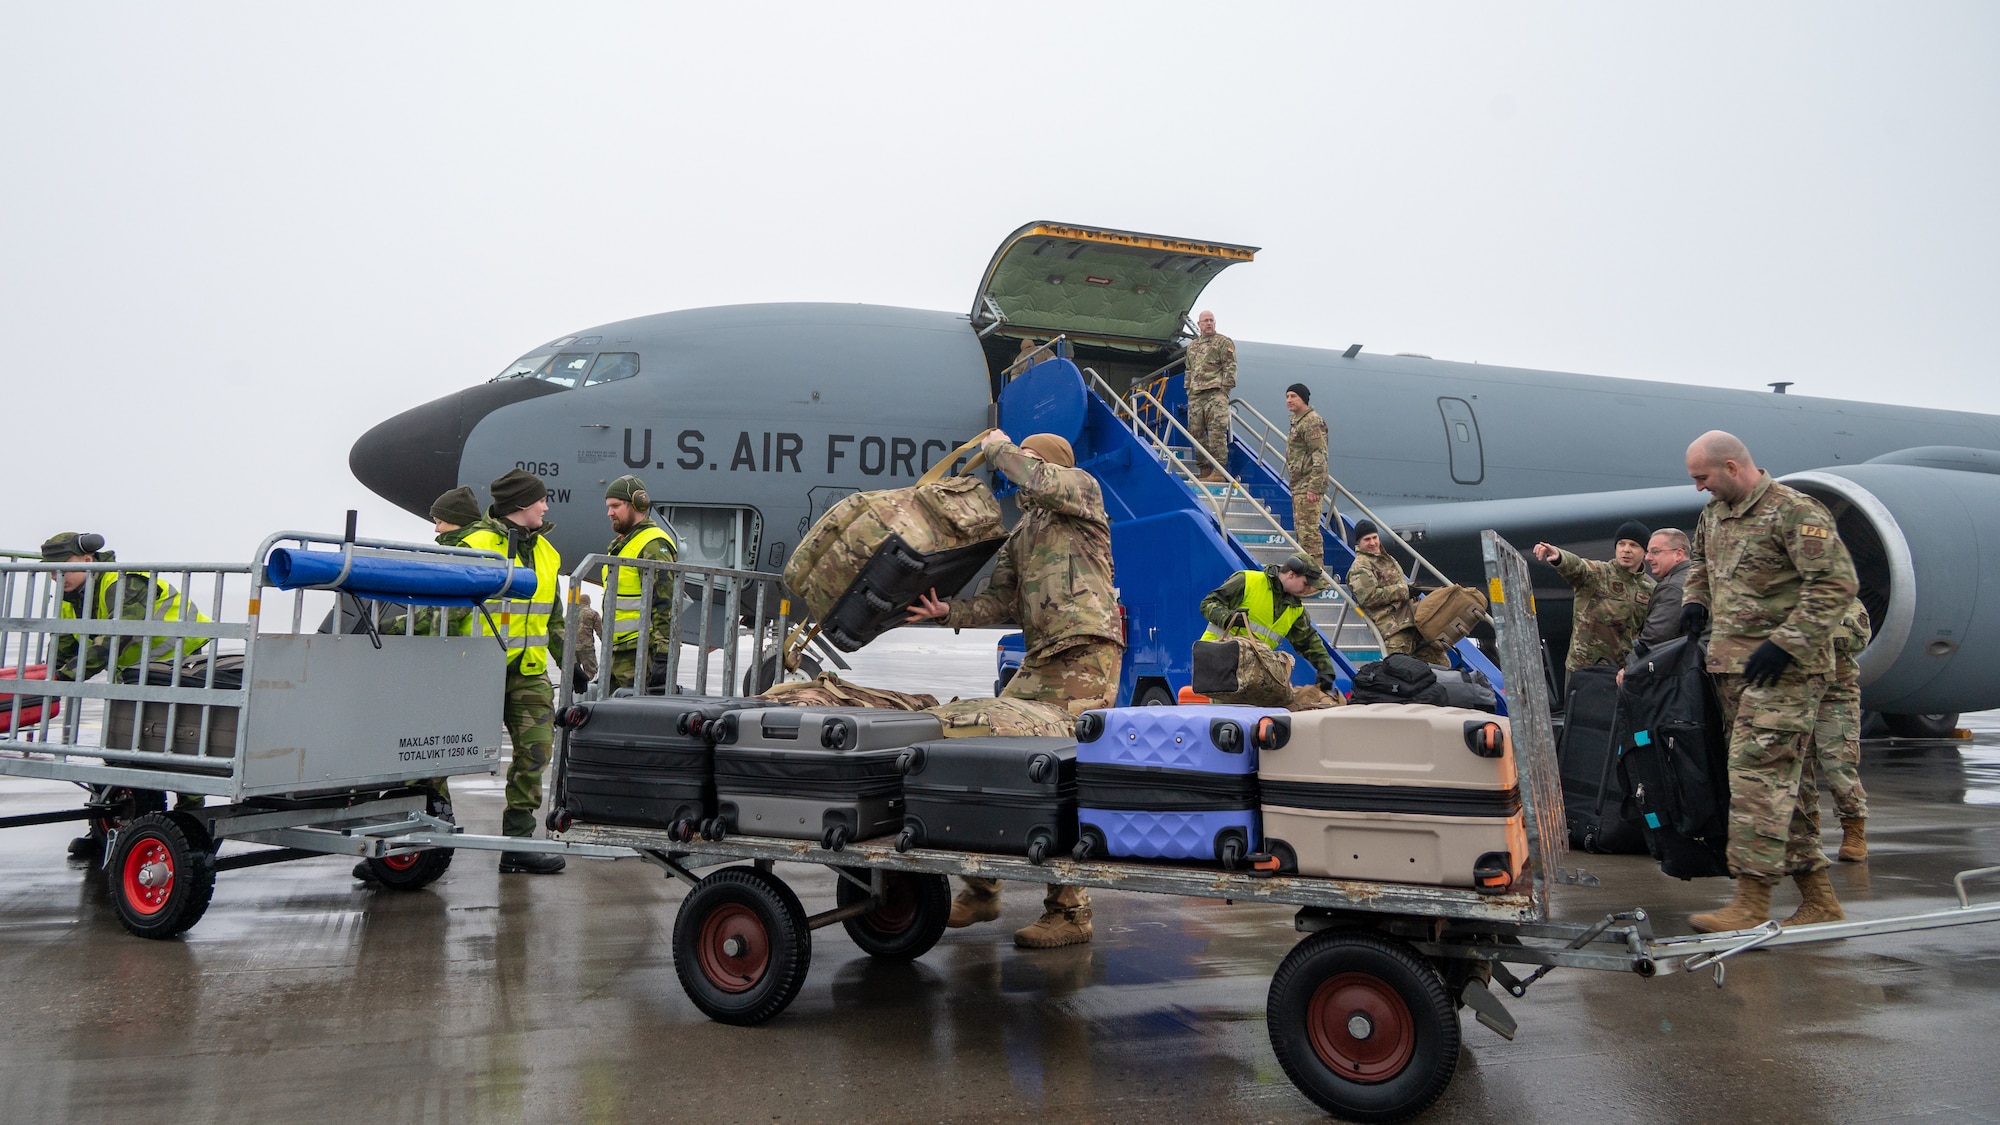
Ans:
POLYGON ((992 464, 1020 484, 1020 522, 1000 544, 992 581, 978 597, 950 603, 944 625, 1016 623, 1028 659, 1078 641, 1120 643, 1112 526, 1096 478, 1016 444, 1002 444, 992 464))

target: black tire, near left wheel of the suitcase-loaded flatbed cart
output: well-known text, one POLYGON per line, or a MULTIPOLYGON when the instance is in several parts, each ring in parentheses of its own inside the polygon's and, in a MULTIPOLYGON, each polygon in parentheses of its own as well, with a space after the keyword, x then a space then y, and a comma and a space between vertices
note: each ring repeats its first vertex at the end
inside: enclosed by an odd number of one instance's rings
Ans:
POLYGON ((696 883, 674 915, 674 975, 694 1007, 716 1023, 754 1027, 776 1017, 798 997, 810 969, 812 929, 806 925, 806 907, 768 871, 724 867, 696 883), (702 929, 716 911, 748 911, 762 929, 766 963, 744 991, 718 987, 702 967, 702 929))

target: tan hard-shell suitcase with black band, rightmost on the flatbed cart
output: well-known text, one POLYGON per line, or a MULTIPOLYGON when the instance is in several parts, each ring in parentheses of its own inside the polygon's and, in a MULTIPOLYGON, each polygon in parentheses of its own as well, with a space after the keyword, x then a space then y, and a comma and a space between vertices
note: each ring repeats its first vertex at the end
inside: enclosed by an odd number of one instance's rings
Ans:
POLYGON ((1264 851, 1328 879, 1506 891, 1528 859, 1508 721, 1366 703, 1282 719, 1262 751, 1264 851))

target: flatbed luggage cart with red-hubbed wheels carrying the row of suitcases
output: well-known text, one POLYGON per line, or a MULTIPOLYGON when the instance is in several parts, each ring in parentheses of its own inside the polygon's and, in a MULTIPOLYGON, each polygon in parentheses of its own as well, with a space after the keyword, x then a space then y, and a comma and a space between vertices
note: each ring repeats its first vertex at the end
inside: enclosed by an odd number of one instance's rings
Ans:
MULTIPOLYGON (((1568 825, 1548 685, 1534 675, 1540 639, 1526 562, 1494 532, 1484 534, 1484 554, 1502 669, 1512 689, 1508 703, 1530 837, 1530 861, 1504 893, 1264 879, 1150 863, 1052 859, 1036 865, 1020 857, 896 851, 890 839, 830 851, 810 841, 704 841, 684 839, 688 833, 574 823, 562 825, 560 837, 636 851, 688 885, 674 921, 674 971, 704 1015, 732 1025, 770 1021, 792 1003, 812 967, 814 929, 838 923, 870 957, 920 957, 946 929, 948 875, 1298 907, 1294 927, 1306 937, 1278 965, 1266 999, 1272 1051, 1306 1097, 1356 1121, 1400 1121, 1444 1093, 1458 1065, 1460 1007, 1512 1039, 1516 1025, 1494 995, 1494 983, 1518 999, 1550 971, 1568 967, 1648 979, 1710 969, 1722 985, 1728 959, 1748 949, 2000 921, 2000 903, 1976 905, 1968 893, 1972 879, 2000 875, 2000 867, 1960 873, 1956 907, 1892 919, 1792 931, 1766 923, 1688 937, 1656 935, 1644 909, 1588 925, 1552 921, 1558 883, 1596 881, 1562 867, 1568 825), (1514 675, 1518 671, 1526 675, 1514 675), (808 917, 798 895, 774 873, 780 861, 834 869, 836 907, 808 917), (712 871, 704 875, 704 869, 712 871), (1526 971, 1516 975, 1510 967, 1526 971)), ((560 773, 562 753, 556 769, 560 773)))

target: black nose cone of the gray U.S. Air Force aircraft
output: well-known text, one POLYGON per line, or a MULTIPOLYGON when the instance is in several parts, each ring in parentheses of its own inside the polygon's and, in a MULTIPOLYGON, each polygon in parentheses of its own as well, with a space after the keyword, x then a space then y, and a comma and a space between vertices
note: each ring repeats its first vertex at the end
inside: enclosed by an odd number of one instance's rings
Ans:
POLYGON ((430 502, 458 486, 458 458, 480 418, 562 390, 538 378, 508 378, 424 402, 362 434, 348 450, 348 470, 376 496, 428 518, 430 502))

